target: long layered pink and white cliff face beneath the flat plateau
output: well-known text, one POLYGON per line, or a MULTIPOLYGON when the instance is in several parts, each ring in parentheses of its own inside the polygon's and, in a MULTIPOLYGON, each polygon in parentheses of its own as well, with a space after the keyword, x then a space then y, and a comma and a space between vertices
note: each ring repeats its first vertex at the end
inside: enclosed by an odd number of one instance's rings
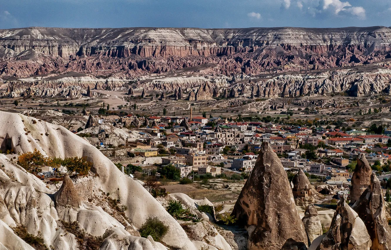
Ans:
POLYGON ((126 91, 131 80, 161 91, 208 83, 239 92, 243 79, 231 77, 243 74, 245 87, 260 85, 254 95, 262 97, 389 93, 390 44, 387 27, 8 29, 0 30, 0 91, 13 85, 22 86, 13 96, 25 87, 61 96, 70 85, 126 91))

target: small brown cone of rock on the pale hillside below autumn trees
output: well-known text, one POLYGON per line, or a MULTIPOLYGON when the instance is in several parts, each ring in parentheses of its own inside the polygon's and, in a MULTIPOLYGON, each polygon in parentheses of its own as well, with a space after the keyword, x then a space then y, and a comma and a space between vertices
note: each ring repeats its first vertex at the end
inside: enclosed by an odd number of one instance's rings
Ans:
POLYGON ((81 206, 81 198, 68 174, 64 175, 64 181, 60 189, 54 194, 56 207, 72 207, 78 209, 81 206))

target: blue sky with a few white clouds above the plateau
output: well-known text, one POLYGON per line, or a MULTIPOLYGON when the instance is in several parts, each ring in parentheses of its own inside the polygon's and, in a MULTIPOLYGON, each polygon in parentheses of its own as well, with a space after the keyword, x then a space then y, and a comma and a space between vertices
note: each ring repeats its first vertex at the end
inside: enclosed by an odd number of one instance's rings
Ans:
POLYGON ((0 0, 19 27, 391 26, 391 0, 0 0))

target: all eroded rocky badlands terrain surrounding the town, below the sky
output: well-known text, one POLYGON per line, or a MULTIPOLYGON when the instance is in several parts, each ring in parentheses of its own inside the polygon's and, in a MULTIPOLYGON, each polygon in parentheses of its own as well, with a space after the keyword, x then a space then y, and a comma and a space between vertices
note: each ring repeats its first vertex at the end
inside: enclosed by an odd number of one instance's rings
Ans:
POLYGON ((332 197, 303 171, 291 183, 268 143, 248 179, 164 183, 163 197, 147 190, 146 167, 138 178, 118 167, 139 163, 126 143, 141 137, 139 123, 158 126, 149 116, 388 127, 390 44, 389 27, 0 30, 0 249, 390 249, 389 204, 365 157, 355 203, 342 196, 331 209, 295 203, 298 186, 316 203, 332 197), (95 130, 115 145, 83 137, 95 130), (34 149, 92 167, 78 179, 38 178, 18 163, 34 149), (174 218, 175 203, 193 219, 174 218), (156 240, 143 234, 153 218, 167 228, 156 240))

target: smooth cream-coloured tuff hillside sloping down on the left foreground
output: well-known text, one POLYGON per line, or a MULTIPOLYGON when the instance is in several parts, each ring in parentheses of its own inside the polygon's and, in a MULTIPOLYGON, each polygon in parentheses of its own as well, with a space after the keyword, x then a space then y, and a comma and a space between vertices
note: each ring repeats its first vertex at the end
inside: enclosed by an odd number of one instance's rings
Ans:
MULTIPOLYGON (((77 249, 74 234, 66 231, 63 224, 76 220, 91 237, 104 236, 101 249, 165 250, 161 243, 129 233, 140 228, 150 216, 159 217, 169 226, 162 240, 166 246, 197 249, 179 223, 140 183, 122 174, 99 150, 64 127, 22 114, 0 112, 0 138, 8 139, 2 147, 11 147, 17 154, 38 149, 51 157, 86 157, 93 163, 91 171, 95 173, 94 199, 78 201, 69 199, 75 196, 72 181, 66 178, 63 187, 54 194, 41 180, 16 165, 15 160, 0 154, 0 243, 4 249, 32 249, 13 233, 11 228, 19 225, 30 234, 42 235, 45 244, 54 249, 77 249), (99 192, 109 193, 126 205, 128 221, 105 208, 99 192)), ((78 185, 81 184, 76 184, 76 190, 80 188, 78 185)))

